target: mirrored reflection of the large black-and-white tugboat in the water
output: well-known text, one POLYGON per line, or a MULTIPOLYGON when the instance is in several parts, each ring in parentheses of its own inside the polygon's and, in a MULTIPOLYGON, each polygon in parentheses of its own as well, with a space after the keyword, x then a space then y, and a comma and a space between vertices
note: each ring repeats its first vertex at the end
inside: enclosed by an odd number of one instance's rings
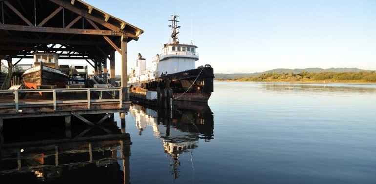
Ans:
POLYGON ((177 102, 171 111, 132 104, 129 112, 136 119, 140 135, 146 127, 153 128, 154 136, 161 140, 171 159, 171 175, 175 180, 179 177, 179 155, 192 154, 200 139, 209 142, 214 138, 214 115, 206 103, 177 102))

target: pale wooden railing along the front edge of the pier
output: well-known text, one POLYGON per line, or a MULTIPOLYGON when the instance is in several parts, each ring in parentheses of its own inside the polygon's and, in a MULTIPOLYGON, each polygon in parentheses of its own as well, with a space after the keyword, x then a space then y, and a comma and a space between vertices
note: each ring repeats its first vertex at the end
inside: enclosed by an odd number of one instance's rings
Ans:
POLYGON ((56 89, 18 89, 18 90, 0 90, 0 94, 13 94, 13 102, 6 102, 6 101, 0 101, 0 106, 10 106, 14 107, 16 112, 20 110, 22 107, 30 107, 33 105, 45 105, 45 106, 53 106, 54 110, 57 110, 58 104, 77 104, 77 103, 85 103, 87 104, 87 109, 91 108, 91 104, 93 103, 108 103, 108 102, 119 102, 119 109, 123 108, 122 104, 122 88, 116 87, 116 88, 56 88, 56 89), (90 99, 90 92, 102 92, 102 91, 116 91, 119 92, 118 98, 112 98, 112 99, 90 99), (43 100, 36 100, 36 101, 20 101, 19 95, 22 93, 38 93, 38 92, 52 92, 52 99, 43 99, 43 100), (67 99, 56 99, 56 93, 57 92, 87 92, 87 99, 73 99, 73 100, 67 100, 67 99))

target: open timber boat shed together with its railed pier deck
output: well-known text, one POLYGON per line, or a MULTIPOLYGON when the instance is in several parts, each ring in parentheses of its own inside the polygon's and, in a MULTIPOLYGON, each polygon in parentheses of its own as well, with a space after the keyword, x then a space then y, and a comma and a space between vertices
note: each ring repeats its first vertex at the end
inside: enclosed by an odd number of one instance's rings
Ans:
MULTIPOLYGON (((10 0, 1 1, 1 5, 0 11, 6 16, 0 20, 0 32, 3 33, 0 39, 0 136, 4 124, 15 123, 19 118, 29 122, 29 118, 64 117, 68 129, 72 116, 89 127, 99 127, 114 113, 119 113, 123 129, 131 103, 127 88, 128 42, 137 41, 144 31, 81 0, 40 0, 39 3, 10 0), (51 70, 60 68, 67 74, 67 86, 52 81, 36 84, 57 86, 28 86, 32 89, 25 89, 23 79, 26 77, 22 75, 32 66, 23 61, 36 59, 34 66, 39 62, 49 65, 55 61, 49 56, 34 57, 35 53, 53 54, 58 57, 56 59, 72 64, 60 63, 57 67, 58 63, 55 63, 51 70), (120 56, 119 61, 115 61, 116 53, 120 56), (81 61, 88 65, 81 65, 81 61), (121 67, 120 87, 114 87, 115 63, 121 67), (90 78, 88 70, 93 70, 93 75, 103 81, 94 83, 95 78, 90 78), (81 79, 84 86, 78 85, 83 84, 81 79), (111 85, 102 85, 107 83, 111 85), (14 85, 22 86, 22 89, 13 88, 14 85)), ((34 84, 34 81, 30 83, 34 84)), ((30 123, 39 128, 35 122, 30 123)))

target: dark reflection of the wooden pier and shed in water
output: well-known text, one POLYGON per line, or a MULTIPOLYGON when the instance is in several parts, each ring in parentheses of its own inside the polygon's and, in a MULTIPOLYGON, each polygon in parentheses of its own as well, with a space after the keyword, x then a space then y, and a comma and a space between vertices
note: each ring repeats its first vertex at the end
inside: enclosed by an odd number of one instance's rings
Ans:
POLYGON ((47 121, 38 127, 4 122, 1 184, 129 184, 130 136, 116 122, 72 122, 65 129, 47 121))

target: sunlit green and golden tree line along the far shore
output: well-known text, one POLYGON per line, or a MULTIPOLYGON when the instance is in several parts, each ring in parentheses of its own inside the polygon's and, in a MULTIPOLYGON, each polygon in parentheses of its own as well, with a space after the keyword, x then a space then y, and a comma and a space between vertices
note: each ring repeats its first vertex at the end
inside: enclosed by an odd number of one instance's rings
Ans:
POLYGON ((286 81, 286 82, 376 82, 375 71, 361 71, 361 72, 307 72, 302 71, 299 74, 290 73, 276 73, 268 72, 257 76, 240 77, 216 80, 226 81, 286 81))

